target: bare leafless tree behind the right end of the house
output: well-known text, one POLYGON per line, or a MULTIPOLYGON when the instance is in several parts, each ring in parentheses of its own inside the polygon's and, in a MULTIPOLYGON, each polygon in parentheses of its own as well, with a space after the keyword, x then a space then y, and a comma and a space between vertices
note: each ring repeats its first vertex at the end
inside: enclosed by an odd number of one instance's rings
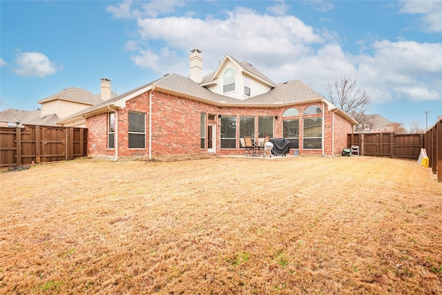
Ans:
POLYGON ((332 104, 361 121, 370 104, 371 94, 356 86, 357 77, 354 73, 342 74, 340 79, 329 83, 325 90, 332 104))

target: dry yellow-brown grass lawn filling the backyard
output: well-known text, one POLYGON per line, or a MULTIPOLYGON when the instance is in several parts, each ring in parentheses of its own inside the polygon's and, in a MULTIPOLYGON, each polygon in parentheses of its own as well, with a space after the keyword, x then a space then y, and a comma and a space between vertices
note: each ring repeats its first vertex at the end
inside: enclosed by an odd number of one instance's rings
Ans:
POLYGON ((389 158, 1 173, 0 294, 442 294, 442 183, 389 158))

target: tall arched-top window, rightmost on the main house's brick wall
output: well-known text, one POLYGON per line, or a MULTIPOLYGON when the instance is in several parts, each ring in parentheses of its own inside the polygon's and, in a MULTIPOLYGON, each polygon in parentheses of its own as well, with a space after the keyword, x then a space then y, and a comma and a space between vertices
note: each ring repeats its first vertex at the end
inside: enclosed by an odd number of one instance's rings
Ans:
POLYGON ((323 148, 323 110, 315 104, 308 106, 304 110, 305 117, 302 121, 303 149, 322 149, 323 148))

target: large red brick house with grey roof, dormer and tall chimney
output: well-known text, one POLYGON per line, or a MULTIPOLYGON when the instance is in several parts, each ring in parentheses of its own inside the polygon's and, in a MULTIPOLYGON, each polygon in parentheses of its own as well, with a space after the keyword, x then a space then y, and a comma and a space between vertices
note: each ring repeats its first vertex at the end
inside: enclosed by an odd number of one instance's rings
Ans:
POLYGON ((59 120, 86 124, 88 155, 159 158, 241 154, 241 139, 285 137, 300 154, 340 155, 357 122, 299 80, 275 83, 245 61, 226 55, 202 75, 202 55, 190 75, 168 74, 59 120))

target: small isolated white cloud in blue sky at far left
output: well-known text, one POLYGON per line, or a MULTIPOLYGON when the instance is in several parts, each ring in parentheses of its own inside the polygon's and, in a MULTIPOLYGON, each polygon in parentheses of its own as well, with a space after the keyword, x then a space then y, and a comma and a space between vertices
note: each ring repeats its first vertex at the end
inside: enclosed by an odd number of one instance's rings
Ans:
POLYGON ((46 77, 47 75, 53 75, 57 70, 57 64, 54 61, 50 61, 43 53, 19 53, 17 59, 15 59, 17 67, 14 72, 19 76, 25 77, 46 77))

